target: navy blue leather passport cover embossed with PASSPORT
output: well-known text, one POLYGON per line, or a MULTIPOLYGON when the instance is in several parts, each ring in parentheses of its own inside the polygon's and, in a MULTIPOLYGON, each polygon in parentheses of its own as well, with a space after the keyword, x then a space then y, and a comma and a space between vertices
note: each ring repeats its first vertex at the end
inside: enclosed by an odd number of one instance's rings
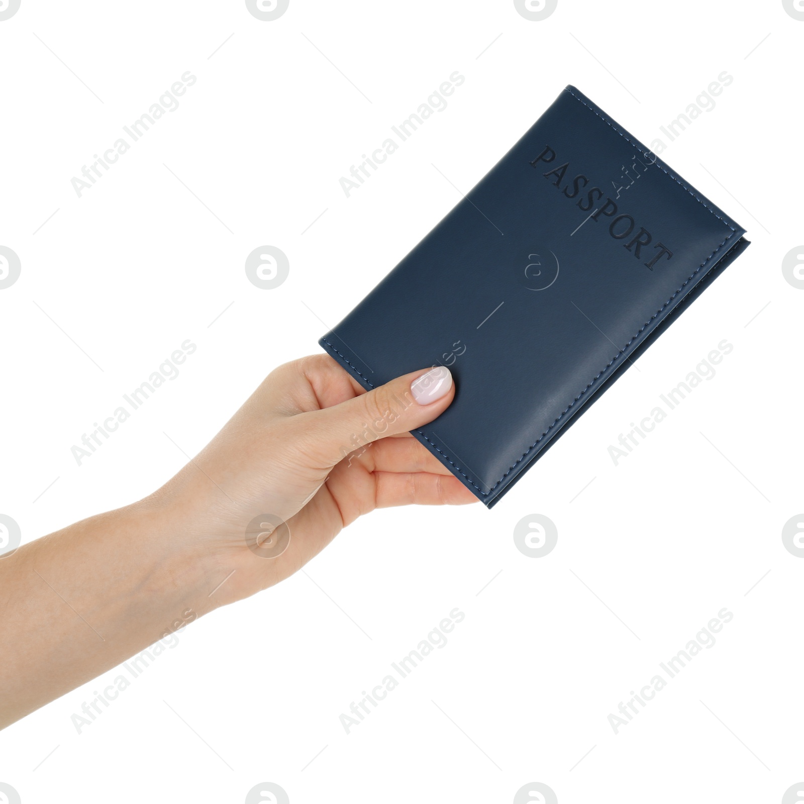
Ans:
POLYGON ((363 388, 443 364, 413 432, 487 507, 748 245, 575 87, 319 343, 363 388))

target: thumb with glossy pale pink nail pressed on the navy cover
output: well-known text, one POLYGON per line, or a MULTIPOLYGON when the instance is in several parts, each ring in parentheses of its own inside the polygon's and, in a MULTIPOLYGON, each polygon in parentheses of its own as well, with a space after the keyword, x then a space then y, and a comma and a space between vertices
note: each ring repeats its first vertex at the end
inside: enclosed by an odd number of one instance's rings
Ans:
POLYGON ((327 465, 378 438, 407 433, 440 416, 455 396, 445 366, 412 371, 354 399, 314 413, 310 440, 327 465))

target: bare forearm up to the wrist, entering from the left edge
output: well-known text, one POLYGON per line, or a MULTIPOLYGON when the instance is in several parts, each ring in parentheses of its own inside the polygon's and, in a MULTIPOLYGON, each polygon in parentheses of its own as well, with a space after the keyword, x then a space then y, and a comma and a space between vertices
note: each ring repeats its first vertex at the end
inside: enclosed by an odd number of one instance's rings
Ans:
MULTIPOLYGON (((84 519, 0 560, 0 728, 175 630, 215 588, 167 507, 84 519)), ((214 574, 214 573, 211 573, 214 574)))

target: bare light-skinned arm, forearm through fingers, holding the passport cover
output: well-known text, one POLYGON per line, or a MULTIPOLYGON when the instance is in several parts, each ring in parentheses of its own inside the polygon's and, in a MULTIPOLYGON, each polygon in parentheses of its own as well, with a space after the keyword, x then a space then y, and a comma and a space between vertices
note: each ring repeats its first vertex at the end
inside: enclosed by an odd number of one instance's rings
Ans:
POLYGON ((0 559, 0 728, 152 645, 188 609, 279 583, 375 508, 477 502, 408 432, 453 401, 451 378, 416 401, 426 371, 364 392, 327 355, 286 363, 154 494, 0 559), (275 557, 247 542, 265 514, 289 529, 275 557))

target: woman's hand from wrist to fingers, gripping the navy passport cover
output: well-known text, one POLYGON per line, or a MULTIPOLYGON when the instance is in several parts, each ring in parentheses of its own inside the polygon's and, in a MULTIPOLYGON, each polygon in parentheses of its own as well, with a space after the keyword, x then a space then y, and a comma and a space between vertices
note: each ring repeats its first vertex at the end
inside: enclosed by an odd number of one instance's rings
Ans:
POLYGON ((154 497, 212 576, 236 571, 219 605, 247 597, 375 508, 476 502, 408 432, 454 393, 445 367, 365 392, 328 355, 286 363, 154 497))

